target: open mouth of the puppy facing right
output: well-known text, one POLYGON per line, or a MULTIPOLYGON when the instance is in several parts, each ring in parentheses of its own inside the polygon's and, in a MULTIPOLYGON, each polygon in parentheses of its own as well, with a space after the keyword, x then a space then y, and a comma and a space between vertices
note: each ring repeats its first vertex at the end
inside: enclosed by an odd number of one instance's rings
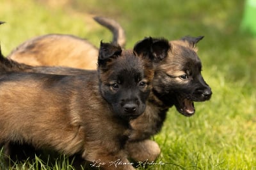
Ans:
POLYGON ((177 97, 177 110, 184 116, 192 116, 195 113, 194 102, 188 98, 177 97))

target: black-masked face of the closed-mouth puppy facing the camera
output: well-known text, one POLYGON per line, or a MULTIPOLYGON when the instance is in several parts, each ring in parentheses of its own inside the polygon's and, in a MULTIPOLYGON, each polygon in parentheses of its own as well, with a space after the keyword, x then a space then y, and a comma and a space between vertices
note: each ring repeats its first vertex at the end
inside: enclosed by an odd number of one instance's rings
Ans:
POLYGON ((100 92, 116 115, 137 118, 145 111, 153 76, 150 63, 132 52, 122 52, 99 66, 100 92))

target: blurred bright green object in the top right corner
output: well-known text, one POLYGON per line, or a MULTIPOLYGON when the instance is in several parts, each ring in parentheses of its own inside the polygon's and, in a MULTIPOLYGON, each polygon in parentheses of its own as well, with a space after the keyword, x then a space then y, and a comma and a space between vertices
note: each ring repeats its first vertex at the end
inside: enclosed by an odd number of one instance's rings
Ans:
POLYGON ((241 29, 256 36, 256 0, 245 1, 241 29))

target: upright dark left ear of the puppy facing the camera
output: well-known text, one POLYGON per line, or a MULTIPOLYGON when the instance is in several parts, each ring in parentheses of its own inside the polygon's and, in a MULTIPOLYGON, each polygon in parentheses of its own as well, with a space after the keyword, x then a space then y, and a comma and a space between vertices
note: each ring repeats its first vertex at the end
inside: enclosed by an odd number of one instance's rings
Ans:
POLYGON ((122 53, 122 48, 114 43, 100 42, 98 65, 104 66, 111 58, 117 58, 122 53))

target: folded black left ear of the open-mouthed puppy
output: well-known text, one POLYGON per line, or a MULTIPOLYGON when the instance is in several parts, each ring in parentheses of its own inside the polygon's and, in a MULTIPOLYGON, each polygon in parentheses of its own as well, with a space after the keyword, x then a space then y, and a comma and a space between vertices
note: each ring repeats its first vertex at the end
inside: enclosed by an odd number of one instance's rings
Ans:
POLYGON ((148 57, 154 61, 161 61, 168 55, 170 44, 164 38, 148 37, 134 45, 133 51, 137 55, 148 57))

